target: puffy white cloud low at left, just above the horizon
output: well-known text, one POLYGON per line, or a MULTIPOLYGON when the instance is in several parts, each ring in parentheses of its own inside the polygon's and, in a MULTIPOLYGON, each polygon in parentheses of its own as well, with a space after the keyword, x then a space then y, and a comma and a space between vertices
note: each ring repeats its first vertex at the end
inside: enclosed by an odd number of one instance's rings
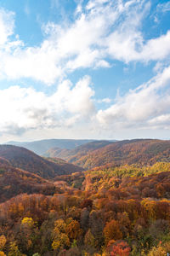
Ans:
POLYGON ((0 90, 1 133, 20 135, 28 130, 68 127, 90 119, 95 111, 90 83, 88 77, 75 85, 65 80, 51 96, 20 86, 0 90))

